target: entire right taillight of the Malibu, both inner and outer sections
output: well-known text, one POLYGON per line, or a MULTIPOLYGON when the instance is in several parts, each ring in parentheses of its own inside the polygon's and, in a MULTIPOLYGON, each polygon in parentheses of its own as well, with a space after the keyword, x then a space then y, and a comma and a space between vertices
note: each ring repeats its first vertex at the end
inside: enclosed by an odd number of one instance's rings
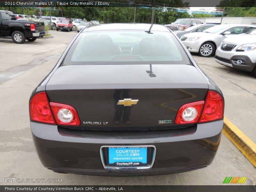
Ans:
POLYGON ((208 91, 205 101, 187 103, 180 107, 175 124, 204 123, 222 119, 224 102, 219 93, 208 91))

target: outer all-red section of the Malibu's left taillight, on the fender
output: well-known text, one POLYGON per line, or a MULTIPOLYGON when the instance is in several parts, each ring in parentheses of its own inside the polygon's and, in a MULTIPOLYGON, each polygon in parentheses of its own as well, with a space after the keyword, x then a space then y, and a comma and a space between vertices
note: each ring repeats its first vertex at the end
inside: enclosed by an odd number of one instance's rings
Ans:
POLYGON ((49 101, 46 92, 37 93, 30 100, 30 119, 48 124, 56 124, 52 116, 52 111, 49 105, 49 101))

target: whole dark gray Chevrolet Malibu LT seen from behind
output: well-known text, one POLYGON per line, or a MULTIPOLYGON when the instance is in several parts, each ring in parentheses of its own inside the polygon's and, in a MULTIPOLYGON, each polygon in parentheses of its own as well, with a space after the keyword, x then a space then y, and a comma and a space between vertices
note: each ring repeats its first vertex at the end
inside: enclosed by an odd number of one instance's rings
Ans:
POLYGON ((60 173, 156 175, 211 164, 224 99, 162 25, 84 28, 33 91, 42 164, 60 173))

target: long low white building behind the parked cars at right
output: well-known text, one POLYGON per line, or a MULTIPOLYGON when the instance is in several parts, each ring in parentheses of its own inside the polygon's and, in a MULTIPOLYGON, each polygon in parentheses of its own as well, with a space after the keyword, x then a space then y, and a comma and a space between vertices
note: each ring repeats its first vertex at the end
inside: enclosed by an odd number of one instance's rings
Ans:
POLYGON ((212 24, 256 25, 256 17, 223 17, 222 22, 221 22, 221 17, 206 17, 206 18, 193 18, 193 19, 200 20, 204 24, 212 23, 212 24))

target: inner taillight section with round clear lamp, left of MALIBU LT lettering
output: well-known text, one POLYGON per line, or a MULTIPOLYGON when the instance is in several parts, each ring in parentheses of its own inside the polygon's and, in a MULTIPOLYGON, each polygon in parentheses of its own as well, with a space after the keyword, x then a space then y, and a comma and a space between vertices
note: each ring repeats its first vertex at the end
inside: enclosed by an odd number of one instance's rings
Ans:
POLYGON ((50 102, 53 115, 59 125, 80 125, 76 109, 70 105, 50 102))

